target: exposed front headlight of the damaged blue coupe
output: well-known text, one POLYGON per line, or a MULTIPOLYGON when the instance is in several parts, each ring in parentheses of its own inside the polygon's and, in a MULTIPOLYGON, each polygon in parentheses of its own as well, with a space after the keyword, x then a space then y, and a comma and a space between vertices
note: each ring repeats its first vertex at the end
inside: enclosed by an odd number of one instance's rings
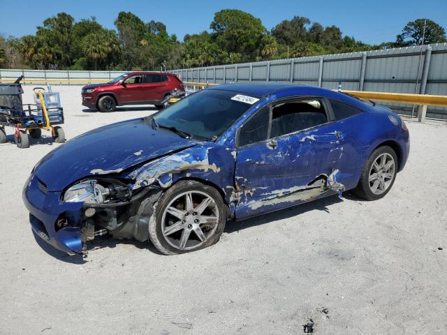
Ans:
POLYGON ((63 201, 108 204, 129 200, 131 191, 117 179, 85 179, 64 193, 63 201))

